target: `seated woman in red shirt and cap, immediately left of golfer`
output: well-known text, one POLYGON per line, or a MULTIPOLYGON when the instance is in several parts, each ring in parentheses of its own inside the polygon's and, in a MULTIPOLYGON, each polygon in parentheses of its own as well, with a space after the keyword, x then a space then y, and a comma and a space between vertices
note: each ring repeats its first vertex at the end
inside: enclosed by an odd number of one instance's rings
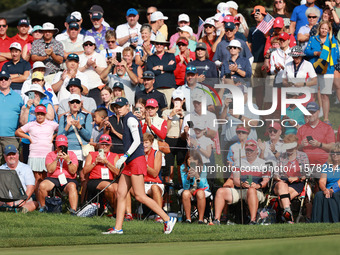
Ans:
MULTIPOLYGON (((98 190, 105 189, 114 176, 119 173, 119 169, 115 167, 118 160, 118 154, 110 152, 112 146, 111 136, 101 135, 99 138, 99 150, 90 152, 86 157, 85 166, 83 168, 84 175, 90 174, 87 183, 89 197, 91 199, 98 190)), ((105 197, 109 201, 110 206, 116 208, 116 193, 118 184, 113 183, 108 186, 105 191, 105 197)))

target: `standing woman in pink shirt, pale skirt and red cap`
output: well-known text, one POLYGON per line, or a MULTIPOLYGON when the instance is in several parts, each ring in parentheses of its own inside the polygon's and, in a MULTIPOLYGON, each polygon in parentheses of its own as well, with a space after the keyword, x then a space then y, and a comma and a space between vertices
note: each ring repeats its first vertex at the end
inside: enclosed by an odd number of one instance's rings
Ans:
POLYGON ((46 155, 52 151, 53 134, 58 130, 59 124, 46 119, 46 107, 38 105, 35 110, 36 120, 30 121, 15 132, 17 137, 30 141, 28 165, 32 168, 35 177, 35 195, 38 196, 39 184, 46 178, 46 155), (28 133, 28 135, 26 134, 28 133))

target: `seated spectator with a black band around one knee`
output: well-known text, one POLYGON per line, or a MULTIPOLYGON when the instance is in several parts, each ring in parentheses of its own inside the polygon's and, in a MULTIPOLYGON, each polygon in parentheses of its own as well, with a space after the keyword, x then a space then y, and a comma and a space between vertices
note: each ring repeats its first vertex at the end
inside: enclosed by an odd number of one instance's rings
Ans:
POLYGON ((275 173, 274 193, 279 196, 280 206, 283 208, 282 220, 293 223, 293 213, 290 208, 290 200, 297 197, 304 188, 304 165, 308 165, 307 154, 297 150, 298 138, 289 134, 283 139, 283 147, 279 166, 282 171, 275 173), (282 168, 281 168, 282 167, 282 168))

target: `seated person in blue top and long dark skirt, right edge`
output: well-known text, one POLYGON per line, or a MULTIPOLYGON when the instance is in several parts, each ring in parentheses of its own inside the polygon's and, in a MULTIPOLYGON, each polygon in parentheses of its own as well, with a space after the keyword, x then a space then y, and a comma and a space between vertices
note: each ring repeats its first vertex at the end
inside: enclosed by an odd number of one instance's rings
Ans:
POLYGON ((312 222, 340 221, 340 143, 332 146, 328 161, 322 166, 320 191, 313 201, 312 222))

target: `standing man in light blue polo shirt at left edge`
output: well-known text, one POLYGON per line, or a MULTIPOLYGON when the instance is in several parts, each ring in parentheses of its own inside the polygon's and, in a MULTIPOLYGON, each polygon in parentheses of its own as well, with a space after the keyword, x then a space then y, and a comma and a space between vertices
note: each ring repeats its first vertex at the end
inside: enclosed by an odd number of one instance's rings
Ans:
MULTIPOLYGON (((1 20, 0 20, 1 22, 1 20)), ((1 23, 0 23, 1 24, 1 23)), ((11 88, 11 77, 6 71, 0 72, 0 159, 6 145, 13 144, 18 148, 19 143, 15 138, 18 128, 21 107, 24 105, 22 98, 11 88)))

